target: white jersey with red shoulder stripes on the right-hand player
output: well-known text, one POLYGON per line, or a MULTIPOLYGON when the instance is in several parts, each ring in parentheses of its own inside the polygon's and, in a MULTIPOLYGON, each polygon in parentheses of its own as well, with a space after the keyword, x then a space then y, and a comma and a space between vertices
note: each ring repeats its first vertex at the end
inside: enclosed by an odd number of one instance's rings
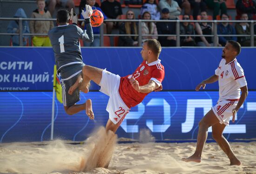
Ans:
POLYGON ((219 76, 219 101, 222 100, 239 100, 241 89, 247 85, 243 68, 233 60, 226 64, 226 60, 222 59, 219 67, 215 70, 215 74, 219 76))

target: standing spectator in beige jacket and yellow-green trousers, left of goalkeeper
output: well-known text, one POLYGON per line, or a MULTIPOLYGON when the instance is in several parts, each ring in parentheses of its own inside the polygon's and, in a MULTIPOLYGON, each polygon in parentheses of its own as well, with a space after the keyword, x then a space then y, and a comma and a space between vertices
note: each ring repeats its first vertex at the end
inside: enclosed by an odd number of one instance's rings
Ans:
MULTIPOLYGON (((31 15, 31 18, 52 19, 51 13, 45 9, 45 0, 37 0, 37 9, 31 15)), ((54 27, 53 21, 31 20, 29 28, 31 33, 47 34, 54 27)), ((51 47, 51 41, 48 35, 35 35, 32 38, 32 43, 35 47, 51 47)))

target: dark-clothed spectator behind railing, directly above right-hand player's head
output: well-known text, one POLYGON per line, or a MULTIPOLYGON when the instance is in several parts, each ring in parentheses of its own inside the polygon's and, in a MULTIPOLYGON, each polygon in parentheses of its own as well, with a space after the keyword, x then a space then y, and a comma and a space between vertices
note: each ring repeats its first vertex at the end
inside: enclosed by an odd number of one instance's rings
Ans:
MULTIPOLYGON (((247 13, 243 13, 240 20, 248 20, 247 13)), ((237 34, 250 34, 250 26, 247 22, 241 22, 236 23, 235 25, 236 33, 237 34)), ((238 36, 237 41, 241 44, 243 47, 249 47, 250 46, 250 36, 238 36)))

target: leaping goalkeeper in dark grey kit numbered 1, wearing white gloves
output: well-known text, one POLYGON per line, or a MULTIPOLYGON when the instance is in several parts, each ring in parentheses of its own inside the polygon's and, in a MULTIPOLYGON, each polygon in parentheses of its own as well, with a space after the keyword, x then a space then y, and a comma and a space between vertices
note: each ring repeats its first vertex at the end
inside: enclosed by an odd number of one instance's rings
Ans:
POLYGON ((73 9, 71 9, 71 13, 61 9, 57 13, 58 26, 48 32, 54 50, 57 74, 61 74, 62 101, 65 112, 73 115, 86 110, 86 114, 90 119, 94 119, 92 101, 88 99, 83 104, 76 104, 80 100, 80 87, 74 88, 73 85, 77 80, 82 82, 81 74, 84 63, 79 39, 81 38, 88 42, 93 42, 94 40, 90 21, 92 13, 92 7, 89 5, 86 5, 85 10, 82 10, 87 27, 87 30, 83 31, 80 27, 77 27, 78 18, 73 9), (69 25, 70 20, 73 23, 69 25), (70 92, 69 89, 72 86, 74 90, 70 92))

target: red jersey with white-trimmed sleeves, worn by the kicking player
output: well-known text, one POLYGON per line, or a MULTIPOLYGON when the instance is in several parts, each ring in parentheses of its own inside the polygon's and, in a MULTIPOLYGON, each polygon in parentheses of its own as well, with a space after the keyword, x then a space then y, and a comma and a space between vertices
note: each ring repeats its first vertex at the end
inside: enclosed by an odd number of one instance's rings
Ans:
POLYGON ((148 95, 148 93, 139 93, 132 87, 129 82, 132 77, 139 82, 140 86, 147 85, 149 80, 155 81, 158 87, 162 85, 164 67, 160 62, 161 60, 158 59, 148 64, 144 60, 133 74, 121 77, 119 94, 127 107, 135 107, 148 95))

